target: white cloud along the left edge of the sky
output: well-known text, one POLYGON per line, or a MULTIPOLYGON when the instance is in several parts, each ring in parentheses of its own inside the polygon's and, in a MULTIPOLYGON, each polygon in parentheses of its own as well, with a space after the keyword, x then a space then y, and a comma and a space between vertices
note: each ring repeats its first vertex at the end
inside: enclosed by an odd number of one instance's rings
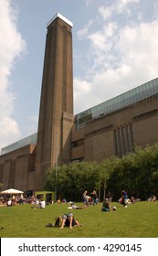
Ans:
POLYGON ((16 58, 26 49, 16 27, 16 17, 11 0, 0 0, 0 148, 14 142, 20 135, 13 118, 16 94, 9 80, 16 58))

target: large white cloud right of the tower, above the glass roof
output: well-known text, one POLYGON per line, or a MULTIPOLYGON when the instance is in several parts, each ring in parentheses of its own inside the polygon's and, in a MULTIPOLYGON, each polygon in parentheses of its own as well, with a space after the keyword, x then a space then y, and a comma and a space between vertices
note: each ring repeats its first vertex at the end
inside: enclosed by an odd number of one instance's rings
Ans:
MULTIPOLYGON (((118 1, 122 10, 125 5, 138 2, 118 1)), ((141 13, 139 9, 138 13, 141 13)), ((87 30, 90 67, 85 78, 78 78, 80 89, 78 86, 78 95, 75 95, 75 112, 82 112, 157 77, 158 19, 150 22, 140 19, 134 23, 131 19, 122 25, 112 17, 111 14, 104 24, 100 14, 102 26, 95 27, 94 31, 87 30), (83 91, 82 83, 87 84, 89 90, 83 91), (80 104, 76 98, 79 95, 80 104)), ((77 80, 74 81, 76 87, 77 80)))

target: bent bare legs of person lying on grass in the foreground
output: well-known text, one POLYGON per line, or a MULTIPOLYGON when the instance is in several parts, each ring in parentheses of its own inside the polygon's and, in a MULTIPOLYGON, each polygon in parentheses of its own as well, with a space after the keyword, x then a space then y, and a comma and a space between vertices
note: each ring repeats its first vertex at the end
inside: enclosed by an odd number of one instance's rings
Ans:
POLYGON ((69 212, 68 214, 63 214, 60 229, 63 229, 64 227, 69 227, 69 229, 72 229, 74 226, 80 226, 80 224, 78 220, 74 219, 73 213, 69 212))

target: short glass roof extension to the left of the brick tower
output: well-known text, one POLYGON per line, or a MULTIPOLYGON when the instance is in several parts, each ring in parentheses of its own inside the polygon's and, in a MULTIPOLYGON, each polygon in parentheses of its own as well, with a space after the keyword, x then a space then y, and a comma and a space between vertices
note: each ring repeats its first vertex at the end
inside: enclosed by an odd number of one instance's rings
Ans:
POLYGON ((27 144, 37 144, 37 133, 34 133, 14 144, 9 144, 1 149, 1 155, 12 152, 20 147, 26 146, 27 144))

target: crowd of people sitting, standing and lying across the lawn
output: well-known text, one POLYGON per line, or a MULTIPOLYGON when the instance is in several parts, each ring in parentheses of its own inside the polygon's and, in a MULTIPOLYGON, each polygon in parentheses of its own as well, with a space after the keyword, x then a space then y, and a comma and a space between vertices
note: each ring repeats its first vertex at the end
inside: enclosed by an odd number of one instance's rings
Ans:
MULTIPOLYGON (((82 200, 83 205, 82 206, 76 206, 73 201, 67 202, 66 198, 58 199, 56 203, 58 204, 69 204, 68 209, 86 209, 90 206, 97 206, 99 205, 99 197, 96 190, 93 190, 90 194, 87 190, 85 190, 82 194, 82 200)), ((111 192, 107 194, 106 197, 103 199, 101 211, 110 212, 115 211, 116 207, 111 207, 111 201, 112 201, 112 195, 111 192)), ((135 197, 128 197, 128 194, 125 190, 121 191, 121 198, 118 200, 118 203, 120 203, 123 208, 127 208, 128 205, 134 204, 136 201, 139 201, 138 198, 135 197)), ((147 198, 146 201, 157 201, 156 196, 147 198)), ((29 196, 29 197, 23 197, 23 194, 20 196, 12 196, 12 197, 0 197, 0 207, 11 207, 16 204, 25 204, 28 203, 31 205, 31 208, 45 208, 46 207, 46 201, 43 198, 38 198, 35 196, 29 196)), ((55 203, 53 200, 49 202, 49 204, 55 203)), ((79 223, 79 220, 74 218, 74 215, 72 212, 68 212, 63 214, 61 217, 58 217, 58 225, 52 226, 58 226, 60 229, 63 229, 64 227, 69 227, 69 229, 72 229, 74 226, 83 226, 79 223)), ((50 226, 47 226, 50 227, 50 226)))

